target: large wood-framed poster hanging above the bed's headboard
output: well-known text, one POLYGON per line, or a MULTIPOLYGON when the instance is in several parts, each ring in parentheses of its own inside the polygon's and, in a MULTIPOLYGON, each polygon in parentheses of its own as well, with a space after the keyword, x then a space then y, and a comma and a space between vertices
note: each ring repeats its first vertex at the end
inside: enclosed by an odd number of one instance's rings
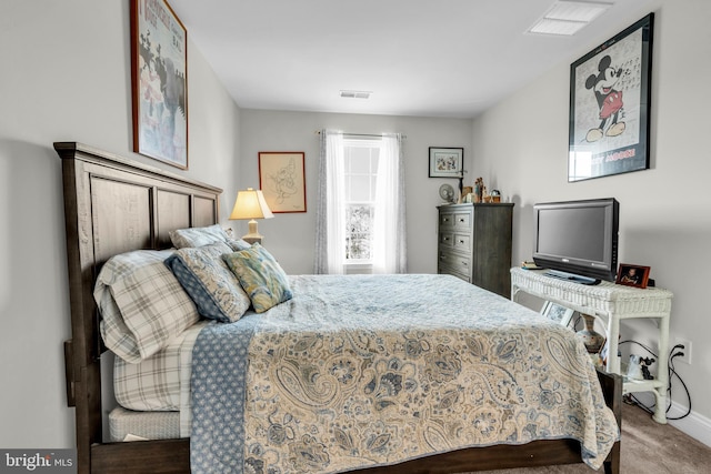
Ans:
POLYGON ((131 0, 133 151, 188 169, 188 32, 164 0, 131 0))

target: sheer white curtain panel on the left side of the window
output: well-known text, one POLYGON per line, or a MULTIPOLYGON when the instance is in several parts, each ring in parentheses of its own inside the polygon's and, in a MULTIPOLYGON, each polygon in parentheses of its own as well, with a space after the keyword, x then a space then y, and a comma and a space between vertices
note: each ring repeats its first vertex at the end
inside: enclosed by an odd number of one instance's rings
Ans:
POLYGON ((343 133, 321 131, 314 272, 343 273, 346 251, 343 133))

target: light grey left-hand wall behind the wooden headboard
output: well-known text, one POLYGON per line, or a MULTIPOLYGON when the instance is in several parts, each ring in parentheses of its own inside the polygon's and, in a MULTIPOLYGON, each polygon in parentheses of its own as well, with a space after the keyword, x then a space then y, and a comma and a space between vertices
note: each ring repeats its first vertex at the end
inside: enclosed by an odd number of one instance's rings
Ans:
MULTIPOLYGON (((0 2, 0 447, 74 445, 60 160, 80 141, 233 196, 239 109, 189 44, 190 170, 131 152, 129 2, 0 2)), ((222 216, 231 203, 222 202, 222 216)))

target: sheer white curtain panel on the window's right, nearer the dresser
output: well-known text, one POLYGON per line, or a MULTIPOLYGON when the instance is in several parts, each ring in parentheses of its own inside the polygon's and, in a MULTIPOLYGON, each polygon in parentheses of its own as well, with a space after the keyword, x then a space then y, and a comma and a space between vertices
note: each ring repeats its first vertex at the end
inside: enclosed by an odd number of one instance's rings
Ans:
POLYGON ((378 160, 373 273, 405 273, 404 165, 400 134, 383 134, 378 160))

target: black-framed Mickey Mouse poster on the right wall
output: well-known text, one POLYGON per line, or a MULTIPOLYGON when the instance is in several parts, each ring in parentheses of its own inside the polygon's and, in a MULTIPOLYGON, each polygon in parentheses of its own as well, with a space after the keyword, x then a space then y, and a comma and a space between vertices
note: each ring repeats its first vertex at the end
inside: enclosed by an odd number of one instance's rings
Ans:
POLYGON ((569 182, 649 168, 653 21, 650 13, 571 64, 569 182))

